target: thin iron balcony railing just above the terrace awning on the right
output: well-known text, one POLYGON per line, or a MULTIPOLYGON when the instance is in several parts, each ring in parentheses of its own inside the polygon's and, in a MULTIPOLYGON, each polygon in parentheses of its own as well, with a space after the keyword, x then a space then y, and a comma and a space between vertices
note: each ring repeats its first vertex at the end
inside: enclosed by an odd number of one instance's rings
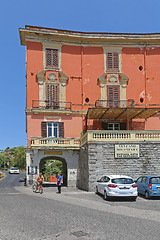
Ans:
POLYGON ((110 101, 110 100, 97 100, 95 102, 95 107, 97 108, 126 108, 126 107, 134 107, 134 100, 120 100, 120 101, 110 101))

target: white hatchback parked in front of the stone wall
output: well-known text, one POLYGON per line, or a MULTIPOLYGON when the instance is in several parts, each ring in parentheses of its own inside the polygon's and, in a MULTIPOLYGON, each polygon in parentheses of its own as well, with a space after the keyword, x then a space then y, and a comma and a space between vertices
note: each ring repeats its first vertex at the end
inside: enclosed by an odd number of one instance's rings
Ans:
POLYGON ((97 181, 96 193, 101 193, 105 200, 111 197, 129 197, 136 200, 138 195, 136 183, 125 175, 103 176, 97 181))

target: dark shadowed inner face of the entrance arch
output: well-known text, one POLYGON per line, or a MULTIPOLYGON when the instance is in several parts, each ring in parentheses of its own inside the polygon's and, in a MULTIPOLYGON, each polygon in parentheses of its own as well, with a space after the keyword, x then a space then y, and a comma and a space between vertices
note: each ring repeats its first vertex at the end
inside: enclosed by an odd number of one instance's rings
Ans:
POLYGON ((58 156, 47 156, 47 157, 43 157, 41 158, 40 162, 39 162, 39 169, 40 168, 40 164, 41 164, 41 161, 44 161, 44 160, 57 160, 57 161, 61 161, 62 164, 63 164, 63 186, 68 186, 68 179, 67 179, 67 176, 68 176, 68 173, 67 173, 67 162, 64 158, 62 157, 58 157, 58 156))

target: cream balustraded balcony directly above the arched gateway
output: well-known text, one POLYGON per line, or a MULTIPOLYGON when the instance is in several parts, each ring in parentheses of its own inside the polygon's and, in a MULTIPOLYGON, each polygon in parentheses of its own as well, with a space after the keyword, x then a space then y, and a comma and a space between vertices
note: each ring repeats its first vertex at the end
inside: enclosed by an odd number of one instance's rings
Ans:
POLYGON ((80 148, 80 139, 78 138, 31 138, 31 148, 35 149, 74 149, 80 148))

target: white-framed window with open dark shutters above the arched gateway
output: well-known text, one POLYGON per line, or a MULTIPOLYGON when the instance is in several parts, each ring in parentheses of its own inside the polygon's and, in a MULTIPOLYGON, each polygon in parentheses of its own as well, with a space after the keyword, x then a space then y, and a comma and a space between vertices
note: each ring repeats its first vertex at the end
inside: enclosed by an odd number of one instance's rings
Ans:
POLYGON ((42 122, 41 123, 42 137, 64 137, 63 122, 42 122))

